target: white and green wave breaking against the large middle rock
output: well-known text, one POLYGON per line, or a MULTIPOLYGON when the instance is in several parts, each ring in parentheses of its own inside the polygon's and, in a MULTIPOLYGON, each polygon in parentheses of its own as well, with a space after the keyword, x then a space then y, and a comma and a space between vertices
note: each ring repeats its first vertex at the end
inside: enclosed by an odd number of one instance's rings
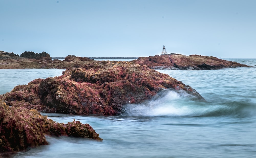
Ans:
POLYGON ((256 104, 249 101, 216 100, 205 102, 194 100, 185 92, 167 90, 157 98, 141 104, 127 104, 122 116, 170 116, 170 117, 200 117, 200 116, 251 116, 256 112, 256 104))

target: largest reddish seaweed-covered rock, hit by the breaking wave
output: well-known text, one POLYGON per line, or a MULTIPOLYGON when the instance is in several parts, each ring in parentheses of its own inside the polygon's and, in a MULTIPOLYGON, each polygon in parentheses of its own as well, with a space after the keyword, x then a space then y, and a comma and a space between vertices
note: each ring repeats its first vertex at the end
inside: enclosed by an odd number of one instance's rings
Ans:
POLYGON ((43 112, 118 115, 124 105, 142 103, 170 89, 204 99, 188 85, 131 62, 88 61, 55 78, 36 79, 0 96, 8 106, 43 112))

